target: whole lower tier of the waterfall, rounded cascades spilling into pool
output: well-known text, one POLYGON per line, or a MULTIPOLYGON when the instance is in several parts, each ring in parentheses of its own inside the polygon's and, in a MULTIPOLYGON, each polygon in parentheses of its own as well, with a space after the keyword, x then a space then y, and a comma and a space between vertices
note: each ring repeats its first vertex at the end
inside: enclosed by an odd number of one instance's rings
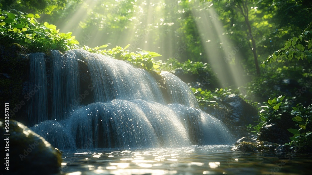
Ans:
POLYGON ((75 110, 66 121, 41 122, 32 130, 60 149, 160 148, 234 142, 226 126, 209 114, 181 104, 163 105, 141 99, 91 103, 75 110))

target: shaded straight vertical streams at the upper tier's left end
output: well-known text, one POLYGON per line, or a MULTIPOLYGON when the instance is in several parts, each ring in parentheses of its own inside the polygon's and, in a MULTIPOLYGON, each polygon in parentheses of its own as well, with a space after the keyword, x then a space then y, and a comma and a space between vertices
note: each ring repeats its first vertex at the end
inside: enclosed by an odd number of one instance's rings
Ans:
POLYGON ((27 100, 29 97, 27 113, 30 126, 48 119, 64 120, 66 113, 73 110, 71 106, 79 99, 79 65, 75 53, 66 51, 64 55, 58 50, 51 50, 48 59, 50 69, 46 66, 44 53, 29 55, 31 91, 27 96, 27 100), (50 91, 51 97, 48 97, 50 91), (51 99, 50 115, 48 115, 48 99, 51 99))

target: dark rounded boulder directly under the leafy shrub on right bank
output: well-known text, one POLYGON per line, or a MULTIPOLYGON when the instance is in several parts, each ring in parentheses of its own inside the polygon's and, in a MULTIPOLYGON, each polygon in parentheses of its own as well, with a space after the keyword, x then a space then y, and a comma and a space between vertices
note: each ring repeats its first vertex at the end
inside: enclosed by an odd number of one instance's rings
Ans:
POLYGON ((282 128, 277 123, 268 124, 260 129, 259 141, 268 141, 274 143, 285 144, 290 142, 290 137, 293 134, 287 131, 287 129, 282 128))

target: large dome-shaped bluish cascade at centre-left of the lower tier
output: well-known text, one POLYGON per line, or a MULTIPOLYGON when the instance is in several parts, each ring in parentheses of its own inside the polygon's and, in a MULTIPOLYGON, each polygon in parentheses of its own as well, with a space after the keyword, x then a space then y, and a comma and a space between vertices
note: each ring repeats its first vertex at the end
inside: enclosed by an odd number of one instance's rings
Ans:
POLYGON ((78 148, 159 147, 148 118, 126 100, 91 103, 80 108, 71 116, 69 127, 78 148))

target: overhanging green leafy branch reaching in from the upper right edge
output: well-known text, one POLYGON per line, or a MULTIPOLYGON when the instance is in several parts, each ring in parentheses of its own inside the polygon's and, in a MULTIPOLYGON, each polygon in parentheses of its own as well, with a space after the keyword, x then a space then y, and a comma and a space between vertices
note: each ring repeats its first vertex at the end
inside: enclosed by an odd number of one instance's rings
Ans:
POLYGON ((270 55, 261 66, 264 68, 267 64, 274 62, 277 58, 285 58, 287 60, 292 60, 296 58, 298 60, 306 59, 308 63, 312 61, 312 22, 304 30, 304 32, 298 36, 293 37, 285 42, 283 48, 275 51, 270 55))

